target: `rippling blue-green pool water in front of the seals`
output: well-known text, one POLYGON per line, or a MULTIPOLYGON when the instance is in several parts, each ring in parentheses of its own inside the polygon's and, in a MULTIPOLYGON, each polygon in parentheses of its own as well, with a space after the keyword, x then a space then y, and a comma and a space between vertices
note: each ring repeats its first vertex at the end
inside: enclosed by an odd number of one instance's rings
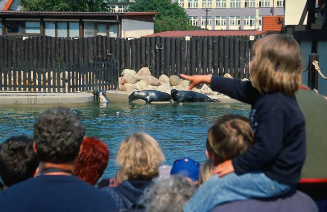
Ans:
MULTIPOLYGON (((49 108, 49 107, 47 107, 49 108)), ((0 143, 20 134, 33 136, 35 118, 46 107, 0 108, 0 143)), ((155 138, 172 165, 181 157, 192 157, 202 163, 205 159, 207 130, 217 116, 235 113, 248 116, 250 105, 244 103, 165 103, 128 104, 111 102, 107 105, 69 106, 82 112, 80 119, 86 136, 103 140, 109 147, 110 160, 103 177, 114 177, 118 167, 114 158, 120 142, 136 131, 155 138)))

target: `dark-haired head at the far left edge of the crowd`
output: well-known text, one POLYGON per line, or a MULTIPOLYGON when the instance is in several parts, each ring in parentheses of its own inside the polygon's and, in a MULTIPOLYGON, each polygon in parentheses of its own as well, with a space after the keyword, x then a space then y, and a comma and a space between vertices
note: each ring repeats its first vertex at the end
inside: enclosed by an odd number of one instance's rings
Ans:
POLYGON ((1 145, 0 175, 6 186, 33 177, 38 165, 39 160, 33 151, 33 139, 13 136, 1 145))

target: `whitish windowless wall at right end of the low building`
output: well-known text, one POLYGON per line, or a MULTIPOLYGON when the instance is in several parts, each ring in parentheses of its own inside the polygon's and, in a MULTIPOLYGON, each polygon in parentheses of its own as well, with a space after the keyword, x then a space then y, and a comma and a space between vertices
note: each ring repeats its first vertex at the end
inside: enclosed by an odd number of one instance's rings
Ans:
POLYGON ((122 38, 139 38, 154 33, 154 23, 139 20, 122 20, 122 38))

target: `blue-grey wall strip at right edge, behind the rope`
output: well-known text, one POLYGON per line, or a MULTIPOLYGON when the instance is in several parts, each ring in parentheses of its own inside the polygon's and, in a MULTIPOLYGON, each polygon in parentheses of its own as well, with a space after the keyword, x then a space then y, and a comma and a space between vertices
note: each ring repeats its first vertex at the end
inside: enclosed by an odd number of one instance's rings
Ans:
MULTIPOLYGON (((318 41, 319 67, 323 75, 327 76, 327 41, 318 41)), ((318 92, 327 95, 327 80, 318 76, 318 92)))

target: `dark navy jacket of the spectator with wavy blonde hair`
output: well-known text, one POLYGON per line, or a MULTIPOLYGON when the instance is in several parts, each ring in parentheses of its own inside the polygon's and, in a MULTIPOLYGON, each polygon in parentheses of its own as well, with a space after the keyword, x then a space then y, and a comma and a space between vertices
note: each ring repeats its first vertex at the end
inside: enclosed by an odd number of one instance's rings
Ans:
POLYGON ((108 192, 115 200, 120 211, 137 205, 144 190, 152 185, 152 181, 124 180, 118 187, 104 187, 101 190, 108 192))

